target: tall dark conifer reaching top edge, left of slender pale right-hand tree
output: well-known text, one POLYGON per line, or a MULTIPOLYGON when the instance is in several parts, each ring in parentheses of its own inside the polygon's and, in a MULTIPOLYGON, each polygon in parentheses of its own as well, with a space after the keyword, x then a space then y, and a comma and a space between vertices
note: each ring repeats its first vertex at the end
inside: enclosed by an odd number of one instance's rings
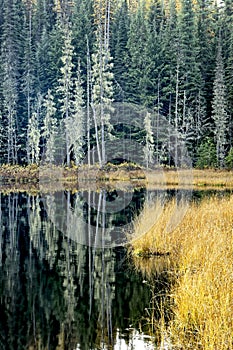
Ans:
POLYGON ((193 157, 206 119, 203 80, 200 71, 196 13, 191 0, 181 1, 178 23, 180 52, 179 68, 179 127, 193 157))

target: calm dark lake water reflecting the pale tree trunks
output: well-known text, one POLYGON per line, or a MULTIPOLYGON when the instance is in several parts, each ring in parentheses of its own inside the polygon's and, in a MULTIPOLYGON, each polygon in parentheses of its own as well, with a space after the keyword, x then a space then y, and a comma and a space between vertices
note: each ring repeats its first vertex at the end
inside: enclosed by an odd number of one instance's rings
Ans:
POLYGON ((172 197, 190 193, 1 194, 0 349, 156 349, 151 303, 167 276, 152 287, 123 245, 146 201, 172 197))

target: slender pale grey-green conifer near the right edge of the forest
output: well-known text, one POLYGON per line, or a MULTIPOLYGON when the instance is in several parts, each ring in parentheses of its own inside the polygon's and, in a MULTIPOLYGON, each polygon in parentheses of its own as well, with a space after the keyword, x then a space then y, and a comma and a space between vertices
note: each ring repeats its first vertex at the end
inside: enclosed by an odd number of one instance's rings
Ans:
POLYGON ((217 161, 220 167, 224 166, 225 146, 227 137, 227 100, 225 86, 225 71, 222 56, 221 35, 218 39, 218 51, 214 79, 214 92, 212 101, 212 118, 215 123, 215 139, 217 161))

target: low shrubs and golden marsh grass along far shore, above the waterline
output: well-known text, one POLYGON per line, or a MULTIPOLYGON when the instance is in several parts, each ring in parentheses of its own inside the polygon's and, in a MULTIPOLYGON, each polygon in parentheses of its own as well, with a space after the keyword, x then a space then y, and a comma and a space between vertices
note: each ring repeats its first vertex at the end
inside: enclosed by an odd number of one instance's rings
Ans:
POLYGON ((222 186, 233 187, 233 170, 219 169, 175 169, 160 167, 144 169, 132 163, 114 165, 107 163, 102 168, 98 164, 71 167, 31 164, 28 166, 5 164, 0 166, 0 178, 4 182, 37 182, 39 173, 46 171, 54 180, 66 182, 116 182, 140 180, 147 187, 156 186, 222 186))

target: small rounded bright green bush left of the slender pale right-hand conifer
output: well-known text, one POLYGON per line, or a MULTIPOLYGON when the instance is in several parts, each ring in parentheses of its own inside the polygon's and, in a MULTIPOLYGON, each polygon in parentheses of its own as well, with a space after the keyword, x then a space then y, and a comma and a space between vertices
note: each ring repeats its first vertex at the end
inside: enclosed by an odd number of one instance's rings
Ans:
POLYGON ((207 137, 198 147, 196 167, 200 169, 205 169, 215 168, 216 166, 216 146, 213 140, 207 137))

